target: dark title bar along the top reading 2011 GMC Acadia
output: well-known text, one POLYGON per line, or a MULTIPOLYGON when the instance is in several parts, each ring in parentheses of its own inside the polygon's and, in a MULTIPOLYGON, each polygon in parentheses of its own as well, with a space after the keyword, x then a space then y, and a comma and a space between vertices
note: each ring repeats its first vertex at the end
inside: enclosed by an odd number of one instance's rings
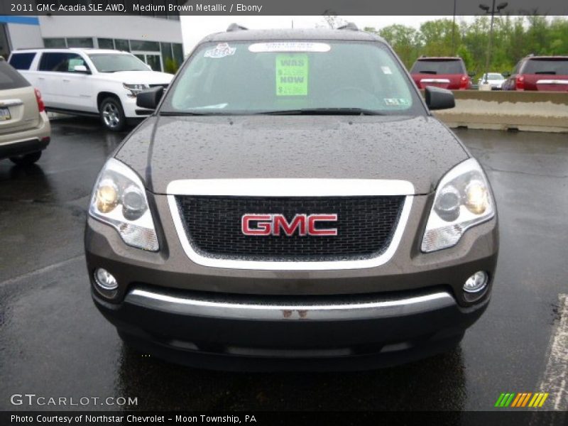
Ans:
MULTIPOLYGON (((492 0, 3 0, 3 15, 371 15, 472 16, 492 0)), ((497 3, 503 3, 497 1, 497 3)), ((508 0, 501 14, 568 16, 566 0, 508 0)))

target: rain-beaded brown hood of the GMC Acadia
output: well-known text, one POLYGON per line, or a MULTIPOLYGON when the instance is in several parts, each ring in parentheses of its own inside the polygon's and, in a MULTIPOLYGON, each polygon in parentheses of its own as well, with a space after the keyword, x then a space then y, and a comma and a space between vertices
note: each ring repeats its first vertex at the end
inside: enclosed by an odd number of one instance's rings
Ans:
POLYGON ((427 116, 190 116, 147 119, 116 153, 148 190, 179 179, 395 179, 431 192, 469 155, 427 116))

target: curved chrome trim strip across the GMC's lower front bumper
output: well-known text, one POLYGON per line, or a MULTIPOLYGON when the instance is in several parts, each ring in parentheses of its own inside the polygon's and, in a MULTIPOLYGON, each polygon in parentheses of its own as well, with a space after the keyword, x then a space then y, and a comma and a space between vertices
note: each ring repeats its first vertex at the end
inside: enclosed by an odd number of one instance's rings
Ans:
POLYGON ((165 293, 133 289, 125 303, 175 315, 214 317, 226 320, 367 320, 416 315, 422 312, 457 306, 445 291, 350 304, 271 305, 178 297, 165 293))

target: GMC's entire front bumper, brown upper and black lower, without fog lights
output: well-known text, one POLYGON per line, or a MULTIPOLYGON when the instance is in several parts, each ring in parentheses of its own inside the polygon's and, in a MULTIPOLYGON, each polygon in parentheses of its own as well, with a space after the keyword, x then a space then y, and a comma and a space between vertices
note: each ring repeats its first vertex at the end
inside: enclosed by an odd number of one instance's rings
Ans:
POLYGON ((497 219, 469 229, 451 249, 422 253, 433 195, 415 196, 387 263, 334 271, 193 263, 180 244, 166 197, 148 198, 160 251, 126 246, 114 229, 89 217, 87 269, 92 282, 95 268, 118 280, 114 293, 100 293, 93 283, 92 293, 121 336, 138 349, 182 364, 252 370, 398 364, 455 345, 491 295, 497 219), (490 283, 471 302, 461 288, 476 271, 486 271, 490 283))

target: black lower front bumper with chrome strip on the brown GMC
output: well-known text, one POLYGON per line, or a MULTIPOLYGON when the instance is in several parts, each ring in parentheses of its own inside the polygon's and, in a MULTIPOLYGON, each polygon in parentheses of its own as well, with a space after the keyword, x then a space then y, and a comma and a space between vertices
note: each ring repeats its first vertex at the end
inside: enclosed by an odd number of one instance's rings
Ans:
POLYGON ((278 300, 133 288, 120 305, 93 294, 121 337, 154 356, 224 370, 359 370, 455 346, 486 309, 447 291, 278 300))

